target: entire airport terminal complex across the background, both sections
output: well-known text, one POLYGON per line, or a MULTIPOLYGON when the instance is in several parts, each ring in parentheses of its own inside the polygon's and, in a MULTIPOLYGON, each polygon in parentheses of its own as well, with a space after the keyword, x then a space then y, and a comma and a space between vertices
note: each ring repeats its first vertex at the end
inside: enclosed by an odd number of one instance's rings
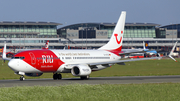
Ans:
MULTIPOLYGON (((116 23, 79 23, 57 29, 59 25, 62 24, 0 22, 0 48, 5 41, 11 49, 41 48, 47 40, 50 49, 98 48, 109 41, 116 23)), ((180 42, 180 24, 126 23, 123 48, 142 48, 143 41, 148 41, 150 48, 169 51, 175 41, 180 42)))

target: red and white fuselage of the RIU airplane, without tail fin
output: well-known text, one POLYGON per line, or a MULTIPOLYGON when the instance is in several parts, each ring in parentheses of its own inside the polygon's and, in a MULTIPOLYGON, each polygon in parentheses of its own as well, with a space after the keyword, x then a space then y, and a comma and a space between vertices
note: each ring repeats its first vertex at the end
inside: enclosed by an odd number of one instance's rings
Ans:
MULTIPOLYGON (((24 51, 15 55, 8 63, 15 72, 67 72, 74 65, 88 65, 121 59, 120 56, 105 50, 34 50, 24 51), (21 59, 19 57, 24 57, 21 59)), ((109 67, 96 65, 92 70, 109 67)), ((69 72, 69 71, 68 71, 69 72)))

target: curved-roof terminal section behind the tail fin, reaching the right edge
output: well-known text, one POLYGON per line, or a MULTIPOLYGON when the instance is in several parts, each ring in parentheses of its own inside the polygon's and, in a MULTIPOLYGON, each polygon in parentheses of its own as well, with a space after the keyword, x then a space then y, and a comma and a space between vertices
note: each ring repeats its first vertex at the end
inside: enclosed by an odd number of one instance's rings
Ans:
MULTIPOLYGON (((60 37, 69 40, 67 44, 70 46, 98 48, 108 42, 115 25, 115 23, 80 23, 59 28, 57 32, 60 37)), ((143 41, 148 41, 151 49, 169 51, 176 41, 180 42, 180 24, 176 24, 174 29, 171 29, 171 26, 126 23, 123 48, 142 48, 143 41)))

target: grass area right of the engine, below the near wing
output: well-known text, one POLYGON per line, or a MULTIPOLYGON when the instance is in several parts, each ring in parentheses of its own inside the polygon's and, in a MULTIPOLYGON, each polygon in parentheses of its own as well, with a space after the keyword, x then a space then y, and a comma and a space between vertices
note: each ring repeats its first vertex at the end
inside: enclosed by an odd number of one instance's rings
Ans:
MULTIPOLYGON (((180 59, 177 59, 180 61, 180 59)), ((93 76, 154 76, 180 75, 180 62, 171 59, 126 62, 126 65, 114 65, 93 76)))

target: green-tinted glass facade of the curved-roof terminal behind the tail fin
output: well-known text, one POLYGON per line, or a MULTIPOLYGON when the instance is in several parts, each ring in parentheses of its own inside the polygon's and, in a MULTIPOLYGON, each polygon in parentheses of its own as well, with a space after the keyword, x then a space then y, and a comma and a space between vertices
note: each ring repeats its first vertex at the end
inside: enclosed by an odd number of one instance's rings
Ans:
MULTIPOLYGON (((124 29, 124 38, 155 38, 156 37, 156 26, 158 24, 147 24, 147 23, 127 23, 124 29)), ((114 31, 114 23, 86 23, 86 24, 75 24, 66 26, 58 29, 58 35, 67 37, 66 30, 78 30, 80 28, 93 28, 97 31, 107 30, 107 37, 110 38, 114 31)), ((96 33, 97 34, 97 33, 96 33)))

